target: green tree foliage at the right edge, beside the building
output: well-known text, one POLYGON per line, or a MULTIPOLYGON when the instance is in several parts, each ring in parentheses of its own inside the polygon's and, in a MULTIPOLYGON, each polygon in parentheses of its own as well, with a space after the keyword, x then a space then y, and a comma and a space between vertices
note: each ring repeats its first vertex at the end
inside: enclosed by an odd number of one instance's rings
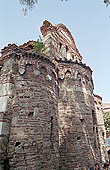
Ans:
POLYGON ((107 133, 110 133, 110 112, 104 113, 104 124, 105 124, 107 133))

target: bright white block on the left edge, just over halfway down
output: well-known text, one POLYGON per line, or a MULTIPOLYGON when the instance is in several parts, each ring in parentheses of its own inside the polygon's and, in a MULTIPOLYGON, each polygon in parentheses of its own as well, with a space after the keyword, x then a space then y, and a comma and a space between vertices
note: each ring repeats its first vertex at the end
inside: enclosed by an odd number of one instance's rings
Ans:
POLYGON ((0 97, 0 112, 6 112, 8 108, 8 96, 0 97))

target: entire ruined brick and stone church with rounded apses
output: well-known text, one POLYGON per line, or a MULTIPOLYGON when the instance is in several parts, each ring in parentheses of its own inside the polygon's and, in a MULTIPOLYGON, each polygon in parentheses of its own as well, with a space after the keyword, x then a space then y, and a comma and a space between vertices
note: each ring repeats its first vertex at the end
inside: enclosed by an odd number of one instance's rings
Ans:
POLYGON ((88 170, 106 158, 102 98, 63 24, 0 57, 0 170, 88 170))

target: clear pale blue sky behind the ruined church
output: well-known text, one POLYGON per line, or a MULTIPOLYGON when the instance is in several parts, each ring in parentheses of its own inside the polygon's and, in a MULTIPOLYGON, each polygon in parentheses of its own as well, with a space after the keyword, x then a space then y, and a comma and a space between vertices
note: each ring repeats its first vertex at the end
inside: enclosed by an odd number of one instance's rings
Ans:
POLYGON ((63 23, 93 70, 94 93, 110 102, 110 7, 103 0, 38 0, 26 16, 22 9, 19 0, 0 0, 0 49, 37 40, 44 20, 63 23))

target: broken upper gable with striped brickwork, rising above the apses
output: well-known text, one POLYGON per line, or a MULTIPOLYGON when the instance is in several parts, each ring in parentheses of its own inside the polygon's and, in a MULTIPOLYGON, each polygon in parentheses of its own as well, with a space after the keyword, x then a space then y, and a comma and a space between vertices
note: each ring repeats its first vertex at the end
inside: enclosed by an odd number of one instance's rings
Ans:
POLYGON ((41 27, 43 41, 47 47, 46 54, 50 59, 81 61, 75 41, 70 31, 63 24, 53 26, 49 21, 44 21, 41 27))

